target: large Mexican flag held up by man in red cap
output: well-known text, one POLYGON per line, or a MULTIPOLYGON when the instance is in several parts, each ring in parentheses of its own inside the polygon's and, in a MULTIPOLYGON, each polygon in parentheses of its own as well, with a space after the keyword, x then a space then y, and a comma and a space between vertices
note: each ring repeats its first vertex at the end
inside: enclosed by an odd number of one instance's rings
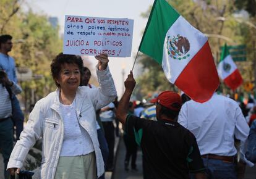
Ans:
POLYGON ((168 80, 197 102, 220 83, 207 37, 165 0, 155 0, 139 51, 162 65, 168 80))

